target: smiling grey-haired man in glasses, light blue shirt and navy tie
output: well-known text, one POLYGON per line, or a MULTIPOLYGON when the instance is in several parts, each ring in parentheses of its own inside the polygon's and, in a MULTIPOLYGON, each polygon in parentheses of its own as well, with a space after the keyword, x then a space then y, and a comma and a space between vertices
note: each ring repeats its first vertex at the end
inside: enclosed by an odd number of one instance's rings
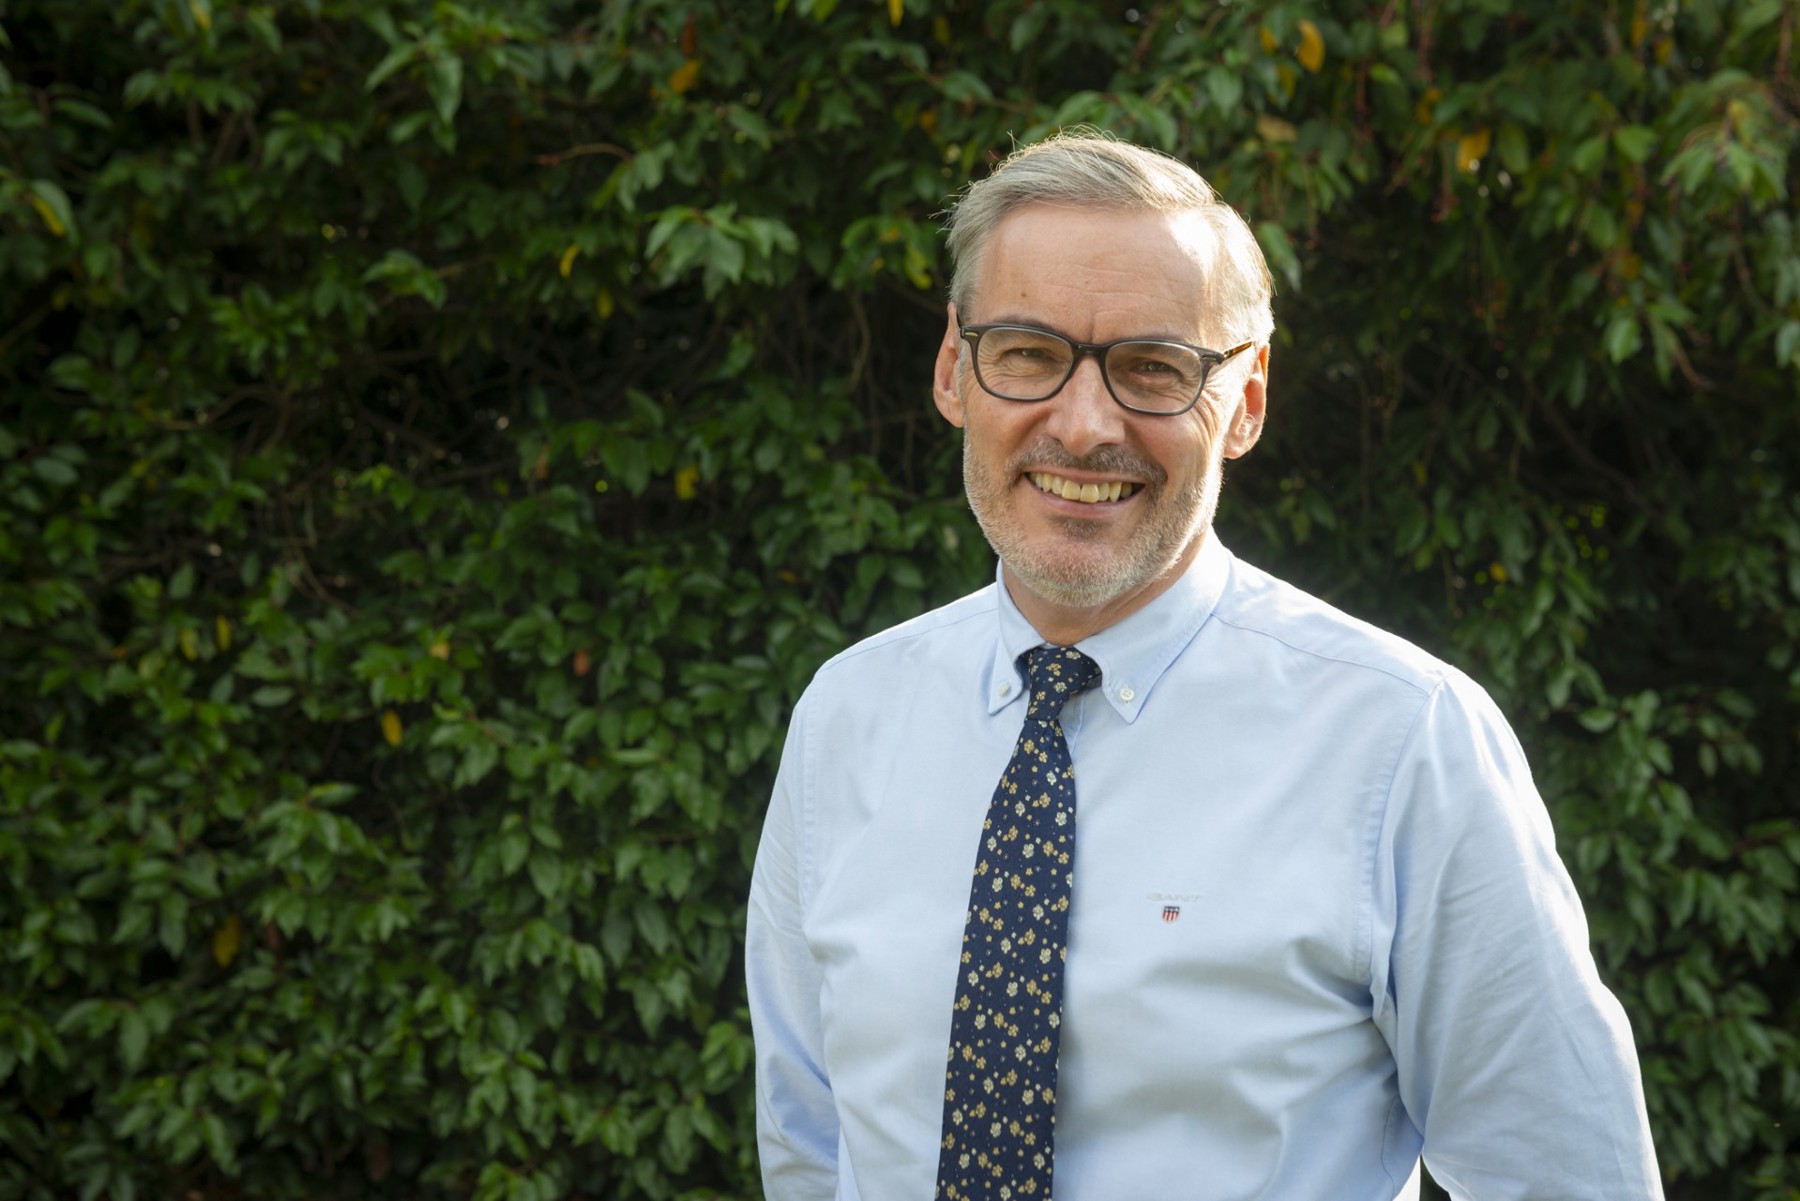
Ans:
POLYGON ((749 908, 769 1196, 1388 1201, 1424 1154, 1474 1201, 1660 1197, 1492 702, 1211 533, 1265 418, 1249 229, 1064 135, 950 250, 934 398, 999 573, 796 709, 749 908))

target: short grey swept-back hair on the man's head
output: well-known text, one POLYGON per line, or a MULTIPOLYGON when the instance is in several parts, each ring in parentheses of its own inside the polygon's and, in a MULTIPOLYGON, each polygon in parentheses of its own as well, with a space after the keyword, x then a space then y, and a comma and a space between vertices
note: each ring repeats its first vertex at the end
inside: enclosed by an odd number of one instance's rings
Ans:
POLYGON ((1274 279, 1256 236, 1237 209, 1179 158, 1096 130, 1066 130, 1022 146, 963 191, 947 218, 950 257, 956 261, 950 301, 958 313, 968 313, 981 257, 1001 220, 1031 203, 1193 212, 1213 234, 1208 295, 1197 299, 1219 313, 1219 333, 1233 342, 1267 342, 1274 331, 1269 304, 1274 279))

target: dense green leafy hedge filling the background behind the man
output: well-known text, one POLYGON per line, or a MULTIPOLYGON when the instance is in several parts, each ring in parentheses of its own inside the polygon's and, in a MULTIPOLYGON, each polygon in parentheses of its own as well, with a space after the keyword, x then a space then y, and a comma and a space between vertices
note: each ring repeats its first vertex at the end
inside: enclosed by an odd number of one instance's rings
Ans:
POLYGON ((947 194, 1282 295, 1222 531, 1512 713, 1672 1197, 1800 1197, 1796 9, 0 0, 0 1197, 756 1194, 790 702, 990 573, 947 194))

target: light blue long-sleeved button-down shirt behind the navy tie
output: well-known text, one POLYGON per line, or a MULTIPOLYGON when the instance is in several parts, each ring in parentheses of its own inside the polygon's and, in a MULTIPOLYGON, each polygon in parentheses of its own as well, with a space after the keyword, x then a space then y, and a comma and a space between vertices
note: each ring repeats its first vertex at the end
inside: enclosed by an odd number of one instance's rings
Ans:
MULTIPOLYGON (((801 699, 749 906, 772 1201, 929 1201, 976 841, 1040 643, 1004 587, 801 699)), ((1661 1197, 1631 1030, 1474 682, 1210 537, 1078 643, 1057 1201, 1661 1197)))

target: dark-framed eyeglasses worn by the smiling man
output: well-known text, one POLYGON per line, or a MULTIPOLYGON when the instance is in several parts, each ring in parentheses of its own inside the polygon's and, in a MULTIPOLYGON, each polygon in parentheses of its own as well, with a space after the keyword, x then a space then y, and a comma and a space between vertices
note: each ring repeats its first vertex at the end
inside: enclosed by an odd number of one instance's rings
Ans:
POLYGON ((1031 326, 959 326, 974 349, 976 382, 1001 400, 1049 400, 1075 375, 1085 355, 1100 362, 1112 400, 1132 412, 1175 418, 1193 407, 1206 376, 1255 342, 1210 351, 1161 339, 1076 342, 1031 326))

